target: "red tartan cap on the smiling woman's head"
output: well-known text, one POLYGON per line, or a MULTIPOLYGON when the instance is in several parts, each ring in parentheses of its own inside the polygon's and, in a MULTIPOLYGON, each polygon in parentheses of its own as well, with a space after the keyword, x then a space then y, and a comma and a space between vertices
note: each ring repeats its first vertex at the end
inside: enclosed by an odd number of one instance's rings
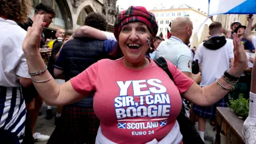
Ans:
POLYGON ((114 25, 114 35, 117 41, 121 28, 127 23, 134 21, 145 23, 153 37, 156 36, 158 26, 155 15, 147 11, 147 9, 143 6, 130 6, 127 10, 119 13, 118 17, 116 18, 114 25))

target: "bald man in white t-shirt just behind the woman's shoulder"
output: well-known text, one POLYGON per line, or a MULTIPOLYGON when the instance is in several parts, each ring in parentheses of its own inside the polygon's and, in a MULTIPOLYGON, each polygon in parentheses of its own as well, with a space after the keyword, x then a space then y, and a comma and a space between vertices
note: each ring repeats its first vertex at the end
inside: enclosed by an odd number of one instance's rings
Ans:
POLYGON ((178 17, 172 21, 172 36, 162 42, 156 50, 156 59, 163 57, 177 66, 196 83, 201 81, 200 74, 192 74, 193 53, 186 45, 192 35, 193 23, 188 17, 178 17))

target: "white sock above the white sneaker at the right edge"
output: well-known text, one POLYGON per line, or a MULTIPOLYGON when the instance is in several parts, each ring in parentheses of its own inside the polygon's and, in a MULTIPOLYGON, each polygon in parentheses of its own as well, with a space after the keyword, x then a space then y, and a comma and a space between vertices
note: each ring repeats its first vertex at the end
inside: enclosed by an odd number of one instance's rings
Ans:
POLYGON ((250 92, 250 109, 249 116, 245 122, 256 122, 256 94, 250 92))

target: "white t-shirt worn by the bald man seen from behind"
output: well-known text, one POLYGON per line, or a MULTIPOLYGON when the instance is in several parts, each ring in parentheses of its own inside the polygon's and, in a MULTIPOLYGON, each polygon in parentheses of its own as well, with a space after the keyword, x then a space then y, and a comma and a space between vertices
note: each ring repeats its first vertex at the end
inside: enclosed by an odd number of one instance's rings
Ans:
POLYGON ((192 52, 179 38, 171 36, 161 42, 156 50, 156 59, 163 57, 177 66, 182 72, 192 73, 192 52))

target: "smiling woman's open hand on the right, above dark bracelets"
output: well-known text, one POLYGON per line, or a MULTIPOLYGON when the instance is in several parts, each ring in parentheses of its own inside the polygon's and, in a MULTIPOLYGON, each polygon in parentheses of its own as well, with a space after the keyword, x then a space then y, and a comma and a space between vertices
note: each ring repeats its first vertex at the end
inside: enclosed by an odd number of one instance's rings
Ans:
POLYGON ((235 77, 240 77, 244 70, 247 68, 247 56, 238 35, 234 33, 234 65, 228 70, 228 73, 235 77))

